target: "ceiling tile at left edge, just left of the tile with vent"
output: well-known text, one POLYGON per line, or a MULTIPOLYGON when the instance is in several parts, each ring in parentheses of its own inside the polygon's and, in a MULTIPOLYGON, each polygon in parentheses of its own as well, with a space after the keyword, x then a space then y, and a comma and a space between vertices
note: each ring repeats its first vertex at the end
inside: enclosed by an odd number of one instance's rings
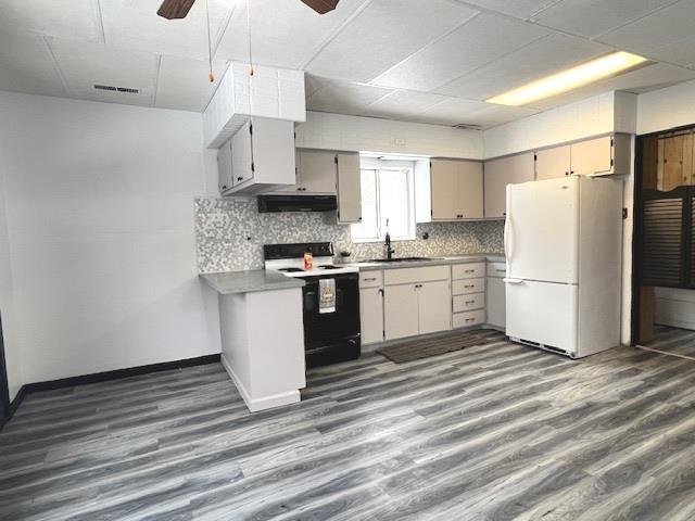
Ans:
POLYGON ((0 90, 67 96, 42 37, 0 30, 0 90))

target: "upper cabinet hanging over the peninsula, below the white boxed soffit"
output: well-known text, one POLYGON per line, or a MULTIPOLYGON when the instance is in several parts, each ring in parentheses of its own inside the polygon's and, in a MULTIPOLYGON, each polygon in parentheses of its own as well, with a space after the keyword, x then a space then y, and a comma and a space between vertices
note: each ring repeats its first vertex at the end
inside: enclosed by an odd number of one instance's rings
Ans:
POLYGON ((256 194, 294 182, 294 124, 254 117, 217 155, 223 195, 256 194))

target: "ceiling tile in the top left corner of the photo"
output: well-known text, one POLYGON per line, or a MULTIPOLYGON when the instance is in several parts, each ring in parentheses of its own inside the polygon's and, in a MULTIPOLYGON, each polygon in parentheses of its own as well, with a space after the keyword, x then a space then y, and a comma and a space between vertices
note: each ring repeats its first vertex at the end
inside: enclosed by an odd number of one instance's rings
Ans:
POLYGON ((98 0, 10 0, 0 2, 0 33, 100 41, 98 0))

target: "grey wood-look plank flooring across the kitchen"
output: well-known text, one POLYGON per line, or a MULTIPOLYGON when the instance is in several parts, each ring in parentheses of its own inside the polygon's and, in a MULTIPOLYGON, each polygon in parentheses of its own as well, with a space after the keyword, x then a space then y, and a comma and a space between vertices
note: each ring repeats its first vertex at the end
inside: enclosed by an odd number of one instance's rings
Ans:
POLYGON ((693 520, 695 363, 496 341, 312 370, 247 411, 215 364, 26 397, 2 520, 693 520))

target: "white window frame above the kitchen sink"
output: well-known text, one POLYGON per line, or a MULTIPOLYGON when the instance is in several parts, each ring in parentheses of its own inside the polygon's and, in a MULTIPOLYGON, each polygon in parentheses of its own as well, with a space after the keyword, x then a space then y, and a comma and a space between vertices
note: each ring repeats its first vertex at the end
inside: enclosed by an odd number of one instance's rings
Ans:
MULTIPOLYGON (((408 219, 408 234, 407 236, 392 236, 391 239, 393 241, 414 241, 417 238, 417 221, 415 215, 415 162, 413 161, 391 161, 391 160, 379 160, 377 157, 361 157, 359 161, 359 170, 362 175, 362 170, 375 170, 375 182, 376 182, 376 200, 377 200, 377 231, 379 237, 370 237, 370 238, 355 238, 353 236, 353 227, 363 226, 362 224, 351 225, 350 226, 350 239, 354 243, 370 243, 370 242, 383 242, 386 238, 386 230, 381 229, 381 182, 380 182, 380 171, 382 170, 396 170, 404 171, 406 174, 406 185, 407 185, 407 219, 408 219)), ((362 201, 361 201, 362 204, 362 201)))

